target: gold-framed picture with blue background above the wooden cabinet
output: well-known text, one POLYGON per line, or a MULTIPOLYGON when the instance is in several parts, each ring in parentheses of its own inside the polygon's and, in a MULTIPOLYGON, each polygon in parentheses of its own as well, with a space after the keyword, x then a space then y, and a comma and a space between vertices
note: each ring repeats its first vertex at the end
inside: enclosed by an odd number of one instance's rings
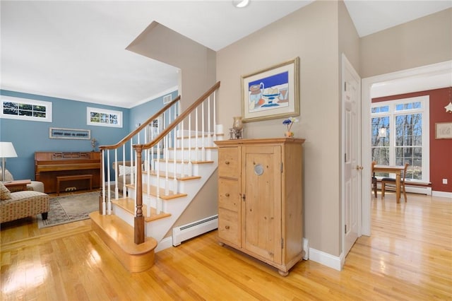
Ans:
POLYGON ((298 57, 242 76, 243 122, 298 115, 298 57))

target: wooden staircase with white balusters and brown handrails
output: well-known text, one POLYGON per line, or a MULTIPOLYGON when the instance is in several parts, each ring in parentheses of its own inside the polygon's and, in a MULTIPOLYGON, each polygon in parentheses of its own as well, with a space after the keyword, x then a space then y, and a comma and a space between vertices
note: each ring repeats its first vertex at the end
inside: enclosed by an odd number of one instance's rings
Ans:
POLYGON ((222 140, 215 126, 219 87, 218 82, 180 114, 178 96, 119 143, 100 146, 105 185, 99 211, 90 218, 130 272, 153 266, 157 244, 218 166, 213 141, 222 140), (112 169, 126 161, 129 177, 112 169), (124 187, 118 187, 119 177, 124 187))

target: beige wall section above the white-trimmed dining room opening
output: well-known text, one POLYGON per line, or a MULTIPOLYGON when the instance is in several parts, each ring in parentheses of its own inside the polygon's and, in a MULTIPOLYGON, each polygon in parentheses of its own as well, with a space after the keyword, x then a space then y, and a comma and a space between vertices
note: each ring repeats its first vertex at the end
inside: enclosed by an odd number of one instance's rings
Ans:
POLYGON ((362 78, 452 59, 452 8, 361 38, 362 78))

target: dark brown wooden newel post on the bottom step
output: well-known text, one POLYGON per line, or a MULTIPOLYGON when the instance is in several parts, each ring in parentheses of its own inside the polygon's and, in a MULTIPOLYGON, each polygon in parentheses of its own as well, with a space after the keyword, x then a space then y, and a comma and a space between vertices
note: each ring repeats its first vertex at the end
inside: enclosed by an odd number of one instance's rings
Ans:
POLYGON ((144 216, 143 216, 143 179, 141 176, 141 152, 143 146, 138 144, 133 146, 136 151, 136 215, 135 215, 135 230, 134 242, 142 244, 144 242, 144 216))

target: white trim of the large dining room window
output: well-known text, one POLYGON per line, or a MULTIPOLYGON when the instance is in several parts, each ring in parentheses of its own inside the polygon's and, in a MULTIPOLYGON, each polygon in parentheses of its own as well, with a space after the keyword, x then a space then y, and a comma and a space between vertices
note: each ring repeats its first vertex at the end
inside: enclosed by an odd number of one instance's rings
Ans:
MULTIPOLYGON (((430 97, 429 95, 416 96, 414 98, 401 98, 398 100, 387 100, 383 102, 372 102, 371 109, 374 107, 389 106, 389 112, 371 113, 371 119, 379 116, 389 116, 389 124, 396 124, 396 116, 404 114, 422 113, 422 179, 406 179, 407 182, 430 182, 430 97), (416 109, 396 111, 396 106, 420 102, 421 107, 416 109)), ((389 131, 389 165, 396 165, 396 131, 389 131)))

